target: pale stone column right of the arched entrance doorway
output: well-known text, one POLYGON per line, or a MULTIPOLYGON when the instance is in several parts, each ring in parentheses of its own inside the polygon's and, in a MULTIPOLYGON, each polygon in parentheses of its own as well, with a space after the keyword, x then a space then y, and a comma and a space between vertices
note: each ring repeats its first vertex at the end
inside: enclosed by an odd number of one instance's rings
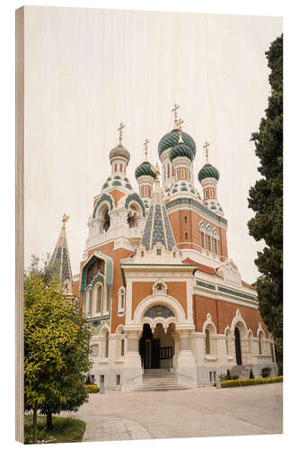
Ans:
POLYGON ((191 336, 193 330, 180 330, 180 352, 177 359, 178 381, 183 384, 197 384, 197 368, 191 351, 191 336))

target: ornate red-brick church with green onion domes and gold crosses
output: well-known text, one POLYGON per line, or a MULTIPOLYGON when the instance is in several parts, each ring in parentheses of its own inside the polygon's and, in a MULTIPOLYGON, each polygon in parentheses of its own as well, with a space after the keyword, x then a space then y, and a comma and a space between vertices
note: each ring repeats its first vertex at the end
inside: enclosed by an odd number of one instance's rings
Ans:
POLYGON ((161 173, 148 160, 145 139, 137 192, 120 123, 74 279, 65 229, 60 237, 58 258, 69 266, 60 272, 92 324, 91 375, 106 390, 186 389, 215 383, 227 369, 240 378, 251 370, 259 377, 264 367, 277 374, 257 292, 229 257, 209 144, 194 176, 197 146, 182 131, 178 108, 173 130, 158 144, 161 173))

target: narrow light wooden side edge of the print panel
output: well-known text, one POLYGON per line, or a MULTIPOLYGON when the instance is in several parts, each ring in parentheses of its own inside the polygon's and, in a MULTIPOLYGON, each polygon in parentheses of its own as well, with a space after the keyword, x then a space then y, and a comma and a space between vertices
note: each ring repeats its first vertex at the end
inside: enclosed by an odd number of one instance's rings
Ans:
POLYGON ((24 8, 15 12, 15 438, 24 442, 24 8))

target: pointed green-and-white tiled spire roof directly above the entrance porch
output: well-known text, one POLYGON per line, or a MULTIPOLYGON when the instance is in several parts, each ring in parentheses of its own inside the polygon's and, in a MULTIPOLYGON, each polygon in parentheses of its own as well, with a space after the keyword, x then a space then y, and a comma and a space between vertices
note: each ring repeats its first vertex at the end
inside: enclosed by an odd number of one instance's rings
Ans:
POLYGON ((175 246, 171 223, 168 219, 159 180, 154 184, 153 201, 147 214, 145 229, 140 241, 145 250, 161 243, 166 250, 175 246))

